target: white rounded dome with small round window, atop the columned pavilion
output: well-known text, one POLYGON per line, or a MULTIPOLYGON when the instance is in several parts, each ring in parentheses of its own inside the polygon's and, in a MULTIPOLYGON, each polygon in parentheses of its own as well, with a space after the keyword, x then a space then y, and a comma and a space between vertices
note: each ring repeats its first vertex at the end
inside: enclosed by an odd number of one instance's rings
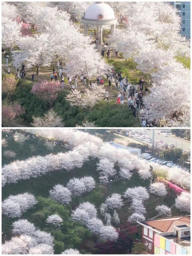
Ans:
POLYGON ((84 18, 89 20, 112 20, 115 19, 115 13, 104 2, 96 2, 87 8, 84 18))

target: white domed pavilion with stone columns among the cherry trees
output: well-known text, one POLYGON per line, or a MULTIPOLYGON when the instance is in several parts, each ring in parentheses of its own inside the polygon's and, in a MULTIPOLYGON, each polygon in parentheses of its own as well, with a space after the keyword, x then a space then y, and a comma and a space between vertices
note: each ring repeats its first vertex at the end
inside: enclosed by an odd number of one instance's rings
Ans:
POLYGON ((111 25, 111 33, 115 32, 115 24, 117 18, 113 9, 104 2, 95 2, 90 5, 84 12, 84 16, 81 18, 84 24, 84 35, 88 35, 88 25, 97 26, 97 38, 98 43, 103 44, 102 27, 104 25, 111 25))

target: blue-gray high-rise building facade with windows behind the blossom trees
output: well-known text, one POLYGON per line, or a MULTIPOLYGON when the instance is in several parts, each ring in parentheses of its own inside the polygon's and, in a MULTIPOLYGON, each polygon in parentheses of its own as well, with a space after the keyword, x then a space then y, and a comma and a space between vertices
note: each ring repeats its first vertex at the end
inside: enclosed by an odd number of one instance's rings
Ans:
POLYGON ((168 2, 181 17, 181 35, 190 38, 190 2, 168 2))

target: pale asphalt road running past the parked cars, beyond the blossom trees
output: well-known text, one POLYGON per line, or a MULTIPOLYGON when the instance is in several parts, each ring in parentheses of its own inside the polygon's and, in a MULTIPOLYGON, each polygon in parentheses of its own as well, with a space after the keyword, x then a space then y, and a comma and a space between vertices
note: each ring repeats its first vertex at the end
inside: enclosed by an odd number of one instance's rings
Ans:
MULTIPOLYGON (((130 130, 133 131, 134 129, 130 129, 130 130)), ((190 142, 185 142, 185 141, 179 140, 176 137, 171 137, 171 136, 165 137, 165 136, 163 136, 163 134, 164 134, 163 132, 158 135, 158 132, 159 132, 159 130, 155 129, 155 140, 157 140, 157 141, 158 140, 163 140, 163 142, 167 142, 168 145, 170 143, 173 143, 175 145, 175 147, 181 147, 184 151, 188 151, 189 150, 190 142)), ((146 133, 145 134, 148 134, 152 138, 152 130, 146 129, 146 133)), ((131 139, 137 140, 135 138, 131 138, 131 139)), ((137 141, 146 143, 146 140, 143 140, 143 141, 137 140, 137 141)), ((148 144, 150 146, 152 145, 152 143, 146 143, 146 144, 148 144)))

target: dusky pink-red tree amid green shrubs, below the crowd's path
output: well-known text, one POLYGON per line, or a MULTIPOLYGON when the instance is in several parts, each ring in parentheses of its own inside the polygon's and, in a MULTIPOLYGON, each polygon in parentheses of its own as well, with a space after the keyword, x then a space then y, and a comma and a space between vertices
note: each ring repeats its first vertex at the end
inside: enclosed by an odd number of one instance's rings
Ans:
POLYGON ((37 95, 38 98, 47 102, 49 106, 52 107, 53 102, 57 98, 57 93, 60 89, 60 83, 57 82, 48 82, 46 80, 34 83, 32 87, 32 93, 37 95))

